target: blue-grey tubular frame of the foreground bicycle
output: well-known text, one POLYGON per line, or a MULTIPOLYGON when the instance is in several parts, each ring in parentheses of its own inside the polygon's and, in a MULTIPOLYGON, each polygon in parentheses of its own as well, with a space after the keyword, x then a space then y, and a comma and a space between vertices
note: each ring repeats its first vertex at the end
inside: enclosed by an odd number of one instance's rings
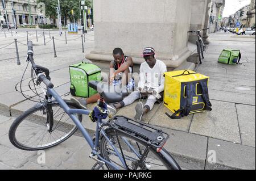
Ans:
MULTIPOLYGON (((63 110, 69 115, 69 117, 71 117, 71 119, 73 120, 73 122, 76 124, 76 127, 81 131, 82 135, 84 136, 85 140, 88 142, 88 144, 90 145, 90 148, 92 149, 92 153, 94 155, 97 155, 98 158, 100 158, 101 161, 108 163, 109 165, 113 166, 114 169, 119 169, 117 166, 115 166, 113 163, 106 161, 106 159, 102 158, 100 154, 97 153, 97 146, 99 145, 99 141, 100 141, 100 133, 106 138, 106 140, 108 140, 109 144, 112 146, 112 148, 114 149, 116 155, 119 157, 120 161, 122 162, 122 165, 124 167, 126 167, 125 161, 122 158, 122 155, 119 153, 119 151, 117 150, 117 148, 113 145, 113 143, 109 140, 108 136, 106 136, 106 133, 104 131, 104 129, 101 129, 101 124, 102 124, 102 120, 98 120, 97 121, 97 127, 96 127, 96 140, 95 143, 93 144, 93 140, 90 137, 89 133, 86 131, 86 129, 83 127, 83 125, 81 124, 81 122, 77 119, 77 117, 74 114, 82 114, 82 115, 89 115, 90 111, 88 110, 80 110, 80 109, 71 109, 69 108, 69 106, 65 103, 65 101, 60 97, 59 94, 57 94, 57 92, 54 89, 49 89, 47 88, 47 92, 49 95, 52 95, 53 98, 55 98, 55 100, 60 104, 60 107, 63 108, 63 110)), ((125 138, 122 138, 125 139, 125 138)), ((137 151, 135 151, 135 149, 133 148, 133 146, 131 146, 129 144, 129 142, 127 140, 124 140, 127 144, 127 146, 129 146, 129 148, 131 150, 134 151, 134 153, 139 157, 139 154, 137 153, 137 151)), ((127 168, 126 168, 127 169, 127 168)))

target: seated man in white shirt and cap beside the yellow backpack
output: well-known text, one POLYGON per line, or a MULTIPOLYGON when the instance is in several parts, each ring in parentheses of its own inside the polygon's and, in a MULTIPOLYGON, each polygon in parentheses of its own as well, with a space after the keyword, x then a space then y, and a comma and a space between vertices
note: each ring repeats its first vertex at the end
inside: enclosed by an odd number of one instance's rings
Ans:
POLYGON ((114 108, 121 108, 132 104, 135 100, 147 96, 147 102, 144 104, 139 102, 135 108, 136 115, 134 118, 141 121, 142 116, 152 110, 157 101, 163 101, 164 77, 163 74, 167 71, 166 65, 155 58, 155 49, 147 47, 142 54, 145 62, 141 64, 139 69, 139 83, 137 91, 132 92, 129 96, 123 99, 122 102, 114 104, 114 108))

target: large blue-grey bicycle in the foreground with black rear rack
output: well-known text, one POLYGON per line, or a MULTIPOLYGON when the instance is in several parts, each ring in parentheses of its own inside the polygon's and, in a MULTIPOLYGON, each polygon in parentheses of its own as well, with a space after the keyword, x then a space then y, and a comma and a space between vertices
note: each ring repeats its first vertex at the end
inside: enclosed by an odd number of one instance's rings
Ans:
POLYGON ((104 165, 107 169, 125 170, 180 169, 163 148, 169 138, 167 133, 125 116, 110 115, 108 104, 123 100, 122 94, 106 92, 101 82, 89 82, 90 87, 100 92, 101 98, 94 108, 94 114, 83 110, 78 104, 63 100, 57 94, 49 70, 36 65, 33 54, 32 41, 28 41, 27 62, 32 64, 31 81, 43 90, 44 97, 41 96, 38 104, 25 111, 11 125, 9 139, 16 148, 52 148, 79 129, 92 149, 89 157, 96 161, 92 167, 94 170, 104 169, 104 165), (45 89, 41 86, 42 82, 45 89), (91 137, 82 126, 82 115, 94 117, 93 122, 97 124, 94 136, 91 137), (110 119, 105 120, 108 116, 110 119))

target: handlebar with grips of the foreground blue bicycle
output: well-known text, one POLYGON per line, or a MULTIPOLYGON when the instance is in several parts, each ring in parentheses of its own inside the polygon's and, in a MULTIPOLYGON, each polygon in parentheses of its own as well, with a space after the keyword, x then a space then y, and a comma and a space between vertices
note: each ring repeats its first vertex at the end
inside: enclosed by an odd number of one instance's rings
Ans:
POLYGON ((49 89, 52 89, 54 87, 53 83, 51 82, 51 78, 49 77, 49 69, 44 68, 43 66, 36 65, 34 62, 34 51, 33 51, 33 43, 32 41, 28 41, 27 43, 27 56, 28 61, 32 64, 32 69, 35 71, 36 75, 38 76, 38 79, 43 82, 49 89), (45 73, 46 75, 42 74, 45 73))

